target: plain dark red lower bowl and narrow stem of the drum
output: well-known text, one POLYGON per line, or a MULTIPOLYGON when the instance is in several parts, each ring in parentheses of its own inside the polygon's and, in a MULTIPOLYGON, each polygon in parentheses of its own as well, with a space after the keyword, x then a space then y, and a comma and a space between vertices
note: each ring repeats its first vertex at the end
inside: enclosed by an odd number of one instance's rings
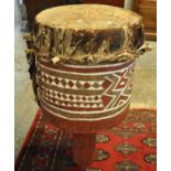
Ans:
POLYGON ((43 117, 46 122, 53 124, 66 132, 73 133, 73 159, 74 162, 83 170, 86 169, 95 161, 96 152, 96 133, 99 130, 110 129, 117 126, 126 115, 128 108, 120 115, 110 119, 103 119, 98 121, 71 121, 57 116, 51 115, 43 107, 41 107, 43 117))

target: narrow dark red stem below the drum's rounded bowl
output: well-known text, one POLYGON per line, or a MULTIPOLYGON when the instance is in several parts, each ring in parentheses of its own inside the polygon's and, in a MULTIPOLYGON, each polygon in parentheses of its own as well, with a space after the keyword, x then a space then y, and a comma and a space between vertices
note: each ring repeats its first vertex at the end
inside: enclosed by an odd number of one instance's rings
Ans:
POLYGON ((95 159, 95 133, 74 133, 73 158, 77 165, 86 171, 87 167, 93 163, 95 159))

